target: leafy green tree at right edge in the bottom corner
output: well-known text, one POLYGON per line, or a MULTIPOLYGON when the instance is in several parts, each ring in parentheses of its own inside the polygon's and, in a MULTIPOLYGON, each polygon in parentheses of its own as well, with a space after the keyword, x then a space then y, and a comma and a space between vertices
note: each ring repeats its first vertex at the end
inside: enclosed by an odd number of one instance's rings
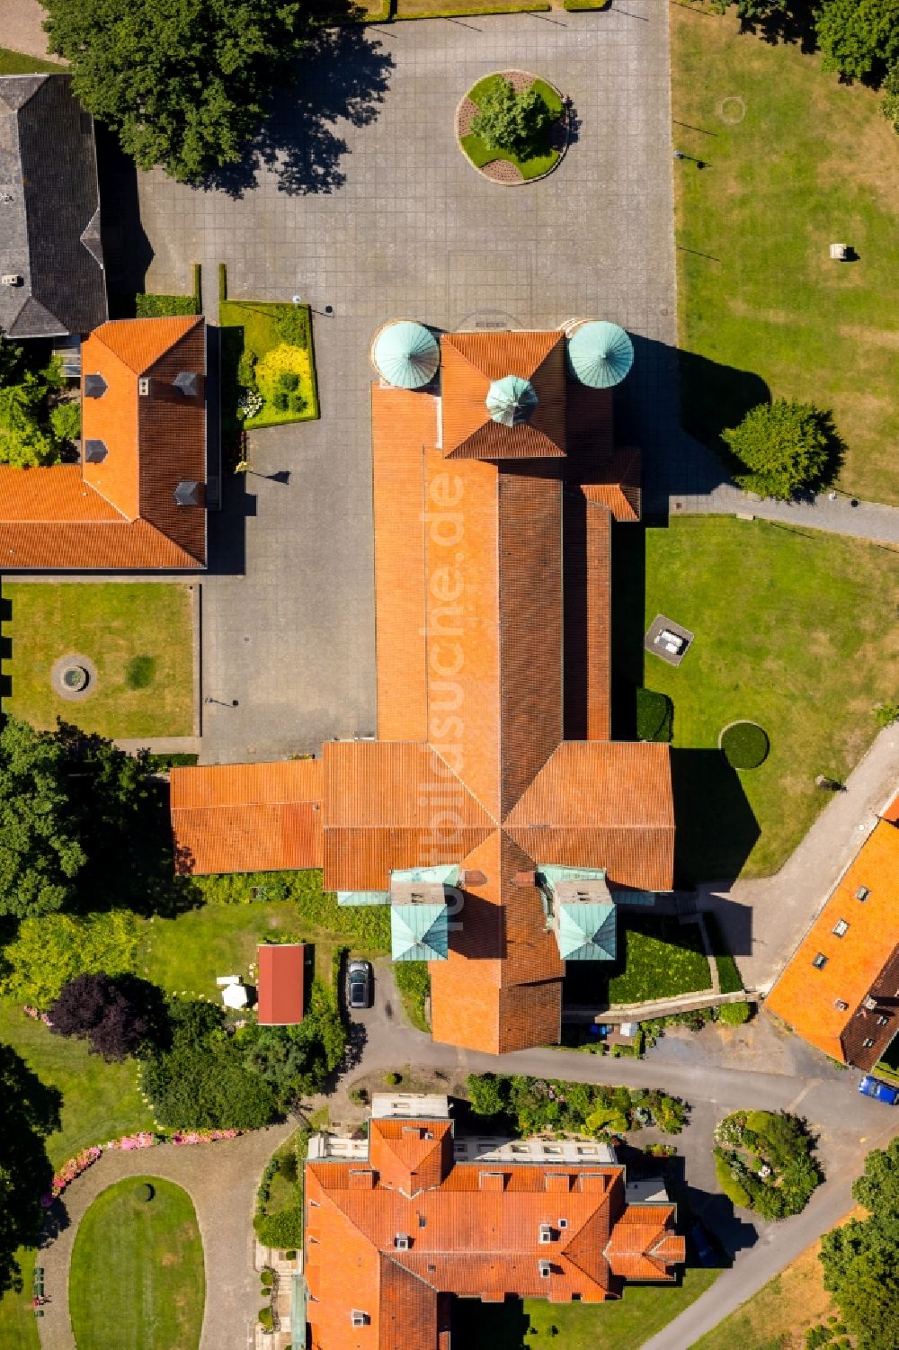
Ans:
POLYGON ((823 1285, 856 1338, 857 1350, 899 1345, 899 1138, 876 1149, 852 1188, 869 1210, 826 1233, 821 1242, 823 1285))

